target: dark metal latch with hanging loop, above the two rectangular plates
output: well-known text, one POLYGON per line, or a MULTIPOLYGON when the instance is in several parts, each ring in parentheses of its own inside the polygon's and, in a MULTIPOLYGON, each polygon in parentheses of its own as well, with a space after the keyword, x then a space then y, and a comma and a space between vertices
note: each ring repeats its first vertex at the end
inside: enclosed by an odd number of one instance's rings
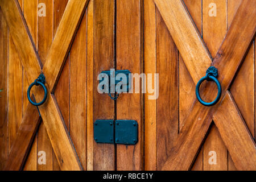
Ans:
MULTIPOLYGON (((101 74, 106 74, 108 76, 108 91, 106 92, 104 86, 102 86, 100 89, 102 90, 103 93, 106 93, 109 95, 109 97, 112 100, 117 100, 117 98, 119 97, 119 94, 121 94, 122 92, 129 92, 130 90, 130 79, 129 79, 129 74, 131 72, 129 70, 117 70, 114 71, 102 71, 101 74), (121 75, 122 74, 122 75, 121 75), (120 76, 120 78, 117 78, 117 76, 120 76), (126 80, 123 80, 123 77, 126 78, 126 80), (121 90, 117 90, 116 86, 120 85, 121 90), (114 97, 112 96, 112 94, 114 94, 114 97)), ((102 80, 100 80, 100 83, 105 81, 105 78, 102 78, 102 80)))

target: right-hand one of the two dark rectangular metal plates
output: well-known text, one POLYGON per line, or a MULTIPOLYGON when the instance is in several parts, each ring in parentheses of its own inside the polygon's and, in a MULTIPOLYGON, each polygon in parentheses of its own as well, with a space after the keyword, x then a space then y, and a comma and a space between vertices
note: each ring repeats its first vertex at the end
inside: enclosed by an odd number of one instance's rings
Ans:
POLYGON ((115 143, 136 144, 138 142, 138 123, 133 120, 115 121, 115 143))

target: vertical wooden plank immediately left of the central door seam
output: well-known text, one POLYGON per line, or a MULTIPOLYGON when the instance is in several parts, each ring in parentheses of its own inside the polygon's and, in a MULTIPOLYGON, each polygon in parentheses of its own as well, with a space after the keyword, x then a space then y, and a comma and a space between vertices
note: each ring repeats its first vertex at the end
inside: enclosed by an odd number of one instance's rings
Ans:
MULTIPOLYGON (((114 119, 114 101, 97 91, 101 71, 114 68, 114 0, 93 1, 93 121, 114 119)), ((93 142, 93 169, 115 169, 113 144, 93 142)))

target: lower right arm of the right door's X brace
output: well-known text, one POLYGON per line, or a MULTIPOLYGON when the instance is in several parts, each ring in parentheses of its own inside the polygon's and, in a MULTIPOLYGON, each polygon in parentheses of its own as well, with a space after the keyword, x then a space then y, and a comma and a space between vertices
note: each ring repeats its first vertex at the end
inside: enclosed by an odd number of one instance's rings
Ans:
POLYGON ((213 119, 236 168, 238 170, 255 170, 256 144, 240 113, 237 113, 236 107, 233 98, 227 92, 213 119), (231 108, 228 113, 226 108, 231 108))

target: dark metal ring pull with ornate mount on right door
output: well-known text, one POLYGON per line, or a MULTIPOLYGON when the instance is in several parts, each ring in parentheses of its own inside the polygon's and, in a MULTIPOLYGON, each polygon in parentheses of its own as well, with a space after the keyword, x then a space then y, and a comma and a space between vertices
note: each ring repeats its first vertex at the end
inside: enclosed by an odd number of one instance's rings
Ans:
POLYGON ((196 85, 196 97, 197 97, 197 100, 203 104, 204 106, 213 106, 215 104, 217 104, 217 102, 220 100, 220 97, 221 97, 221 84, 220 82, 218 81, 217 79, 218 77, 218 69, 215 68, 215 67, 210 67, 207 69, 207 75, 203 78, 201 78, 199 80, 199 82, 197 83, 196 85), (201 84, 205 81, 214 81, 218 87, 218 95, 216 97, 216 99, 213 101, 213 102, 205 102, 202 100, 202 98, 200 97, 200 93, 199 93, 199 89, 200 89, 200 86, 201 84))

